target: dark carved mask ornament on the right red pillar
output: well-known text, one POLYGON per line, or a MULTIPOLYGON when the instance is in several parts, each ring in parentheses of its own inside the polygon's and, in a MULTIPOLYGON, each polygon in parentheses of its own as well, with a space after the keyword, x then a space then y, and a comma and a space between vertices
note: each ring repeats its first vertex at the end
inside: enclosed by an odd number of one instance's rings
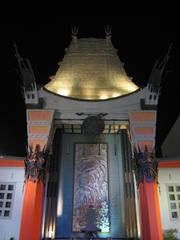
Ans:
POLYGON ((157 182, 158 161, 155 159, 154 151, 149 151, 145 145, 144 151, 140 146, 134 148, 135 175, 137 184, 146 182, 157 182))

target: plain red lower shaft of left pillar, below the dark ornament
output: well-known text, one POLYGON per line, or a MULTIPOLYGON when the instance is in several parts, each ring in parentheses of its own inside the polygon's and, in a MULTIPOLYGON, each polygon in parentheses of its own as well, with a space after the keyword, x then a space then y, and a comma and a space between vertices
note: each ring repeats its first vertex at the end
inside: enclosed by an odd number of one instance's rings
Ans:
POLYGON ((44 184, 27 180, 21 218, 20 240, 40 240, 44 184))

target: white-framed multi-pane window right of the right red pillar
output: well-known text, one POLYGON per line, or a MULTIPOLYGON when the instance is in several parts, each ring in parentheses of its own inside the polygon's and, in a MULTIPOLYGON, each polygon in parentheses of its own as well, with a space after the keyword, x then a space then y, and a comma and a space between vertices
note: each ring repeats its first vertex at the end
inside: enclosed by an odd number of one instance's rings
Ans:
POLYGON ((167 186, 170 218, 180 220, 180 184, 167 186))

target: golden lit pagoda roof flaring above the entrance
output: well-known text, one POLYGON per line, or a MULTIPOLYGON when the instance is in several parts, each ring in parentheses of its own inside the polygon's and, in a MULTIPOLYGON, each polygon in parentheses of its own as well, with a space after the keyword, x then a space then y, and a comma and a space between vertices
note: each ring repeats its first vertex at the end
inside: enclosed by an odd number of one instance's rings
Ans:
POLYGON ((104 100, 138 89, 127 76, 110 38, 73 37, 59 66, 45 88, 61 96, 104 100))

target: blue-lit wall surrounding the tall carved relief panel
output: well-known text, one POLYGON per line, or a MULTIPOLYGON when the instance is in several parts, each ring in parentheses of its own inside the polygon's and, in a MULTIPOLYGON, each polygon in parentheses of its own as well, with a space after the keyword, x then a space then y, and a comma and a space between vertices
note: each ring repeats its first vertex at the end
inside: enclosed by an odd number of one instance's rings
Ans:
MULTIPOLYGON (((122 144, 120 135, 103 134, 101 137, 87 137, 80 134, 62 135, 58 146, 59 192, 56 220, 56 237, 83 237, 83 233, 73 231, 73 200, 75 146, 82 143, 104 143, 107 146, 107 179, 109 197, 108 233, 100 233, 100 237, 124 237, 124 178, 122 166, 122 144)), ((79 194, 79 197, 82 195, 79 194)))

